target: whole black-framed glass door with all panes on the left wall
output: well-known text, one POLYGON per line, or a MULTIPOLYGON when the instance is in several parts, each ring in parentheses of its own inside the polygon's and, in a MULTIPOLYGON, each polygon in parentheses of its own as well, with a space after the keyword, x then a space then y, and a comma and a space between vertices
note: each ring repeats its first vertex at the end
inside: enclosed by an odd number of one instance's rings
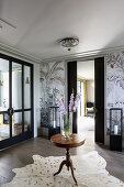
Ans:
POLYGON ((33 65, 1 55, 0 148, 33 136, 33 65))

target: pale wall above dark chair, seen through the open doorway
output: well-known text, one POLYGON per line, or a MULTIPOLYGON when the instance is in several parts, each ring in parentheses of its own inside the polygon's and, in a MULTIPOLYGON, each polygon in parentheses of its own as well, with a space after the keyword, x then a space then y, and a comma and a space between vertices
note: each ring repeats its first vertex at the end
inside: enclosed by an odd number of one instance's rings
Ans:
POLYGON ((94 102, 94 80, 87 80, 87 101, 94 102))

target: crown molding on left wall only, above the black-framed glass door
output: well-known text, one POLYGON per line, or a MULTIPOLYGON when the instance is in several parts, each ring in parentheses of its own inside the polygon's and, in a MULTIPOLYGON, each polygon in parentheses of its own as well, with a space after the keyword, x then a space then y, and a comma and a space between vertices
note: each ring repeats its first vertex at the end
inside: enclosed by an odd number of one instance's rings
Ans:
POLYGON ((22 61, 26 61, 29 63, 37 63, 37 64, 41 63, 41 58, 36 58, 33 55, 21 52, 3 43, 0 43, 0 53, 15 57, 15 58, 20 58, 22 61))

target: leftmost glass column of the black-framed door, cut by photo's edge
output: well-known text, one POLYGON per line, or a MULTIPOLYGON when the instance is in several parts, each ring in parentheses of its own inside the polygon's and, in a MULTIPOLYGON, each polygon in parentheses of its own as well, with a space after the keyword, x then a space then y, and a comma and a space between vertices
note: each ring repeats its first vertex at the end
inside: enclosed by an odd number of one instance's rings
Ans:
POLYGON ((0 58, 0 141, 10 138, 9 61, 0 58))

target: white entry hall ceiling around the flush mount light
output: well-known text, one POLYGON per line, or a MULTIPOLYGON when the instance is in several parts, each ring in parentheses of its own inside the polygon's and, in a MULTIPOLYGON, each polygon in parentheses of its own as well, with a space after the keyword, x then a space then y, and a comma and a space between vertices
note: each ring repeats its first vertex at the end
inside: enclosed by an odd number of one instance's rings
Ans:
POLYGON ((0 18, 16 26, 0 22, 0 42, 41 59, 124 45, 124 0, 0 0, 0 18))

